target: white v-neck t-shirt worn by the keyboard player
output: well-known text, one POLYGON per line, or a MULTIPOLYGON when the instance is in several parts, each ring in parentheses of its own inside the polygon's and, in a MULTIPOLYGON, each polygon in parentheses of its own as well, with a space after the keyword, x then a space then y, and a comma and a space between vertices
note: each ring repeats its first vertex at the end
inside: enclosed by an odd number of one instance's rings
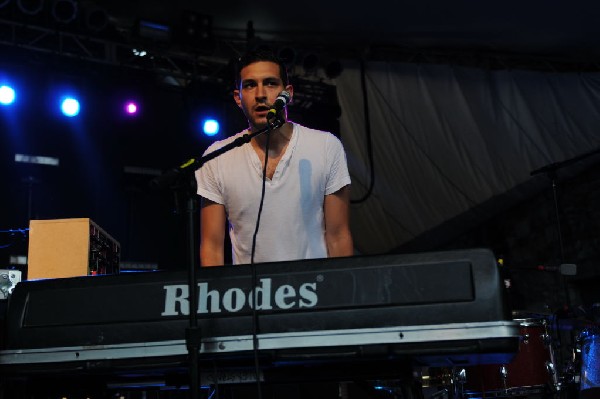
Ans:
MULTIPOLYGON (((217 141, 205 154, 247 133, 244 130, 217 141)), ((251 261, 263 166, 246 143, 196 171, 198 195, 225 206, 234 264, 251 261)), ((329 132, 294 123, 273 178, 266 181, 254 262, 327 257, 323 201, 348 184, 350 174, 340 140, 329 132)))

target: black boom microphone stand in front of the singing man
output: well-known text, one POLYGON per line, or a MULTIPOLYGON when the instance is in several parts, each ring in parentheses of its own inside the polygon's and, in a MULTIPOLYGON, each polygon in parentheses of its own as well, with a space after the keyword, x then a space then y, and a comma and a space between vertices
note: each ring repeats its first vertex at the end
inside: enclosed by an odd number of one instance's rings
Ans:
MULTIPOLYGON (((269 119, 267 126, 263 129, 257 130, 256 132, 250 132, 244 134, 231 143, 206 154, 201 158, 191 158, 181 164, 180 166, 170 169, 162 175, 158 176, 150 182, 150 186, 154 188, 172 188, 176 186, 176 182, 181 179, 187 180, 188 186, 188 198, 187 198, 187 230, 188 230, 188 292, 189 292, 189 327, 185 330, 185 342, 188 350, 188 357, 190 362, 190 392, 192 399, 199 399, 200 397, 200 367, 199 367, 199 354, 202 346, 202 334, 200 326, 198 324, 198 285, 196 284, 196 242, 195 242, 195 229, 194 229, 194 217, 196 214, 196 193, 190 187, 194 187, 194 172, 201 168, 206 162, 214 159, 227 151, 230 151, 236 147, 249 143, 253 137, 256 137, 262 133, 269 132, 271 130, 281 127, 285 123, 285 120, 279 115, 269 119)), ((216 377, 218 379, 218 376, 216 377)))

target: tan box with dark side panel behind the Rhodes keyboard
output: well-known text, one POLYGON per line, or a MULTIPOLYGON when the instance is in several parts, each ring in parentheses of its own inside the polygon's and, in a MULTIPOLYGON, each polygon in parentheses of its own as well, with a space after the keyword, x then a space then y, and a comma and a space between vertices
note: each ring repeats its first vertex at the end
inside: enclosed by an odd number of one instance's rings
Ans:
POLYGON ((120 253, 91 219, 31 220, 27 279, 118 274, 120 253))

